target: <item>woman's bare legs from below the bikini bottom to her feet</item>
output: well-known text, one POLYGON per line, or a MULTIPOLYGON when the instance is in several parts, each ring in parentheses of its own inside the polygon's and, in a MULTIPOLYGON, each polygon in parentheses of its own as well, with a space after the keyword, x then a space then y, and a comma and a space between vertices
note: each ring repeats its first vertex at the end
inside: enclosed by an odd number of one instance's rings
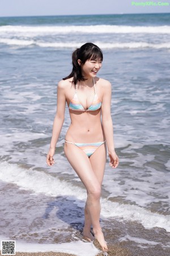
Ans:
MULTIPOLYGON (((86 208, 87 210, 86 218, 85 218, 85 227, 93 225, 94 233, 97 240, 100 242, 100 245, 103 249, 107 249, 107 245, 104 241, 104 237, 101 237, 101 228, 100 228, 100 193, 101 193, 101 177, 103 179, 104 166, 105 166, 105 146, 101 145, 95 153, 91 156, 91 160, 88 158, 86 154, 74 144, 65 143, 65 155, 69 160, 71 166, 74 168, 76 174, 78 174, 79 178, 82 180, 83 184, 87 189, 87 202, 86 208), (102 149, 103 148, 103 149, 102 149), (101 153, 103 157, 101 156, 101 153), (96 158, 96 160, 95 160, 96 158), (94 160, 93 160, 94 159, 94 160), (102 160, 103 159, 103 160, 102 160), (101 162, 102 164, 101 164, 101 162), (96 176, 97 169, 94 171, 92 165, 98 167, 98 175, 96 176), (99 164, 100 162, 100 164, 99 164), (102 170, 99 169, 100 166, 103 166, 102 170), (99 172, 102 172, 99 175, 99 172), (90 222, 91 219, 91 222, 90 222), (99 232, 100 230, 100 232, 99 232)), ((84 227, 84 228, 85 228, 84 227)), ((87 232, 86 228, 84 232, 87 232)), ((90 231, 88 231, 90 233, 90 231)))

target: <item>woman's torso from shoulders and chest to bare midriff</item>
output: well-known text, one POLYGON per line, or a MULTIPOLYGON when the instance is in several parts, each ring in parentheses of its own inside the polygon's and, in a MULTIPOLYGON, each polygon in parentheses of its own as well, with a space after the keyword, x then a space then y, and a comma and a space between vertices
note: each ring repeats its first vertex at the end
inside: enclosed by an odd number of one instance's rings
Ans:
MULTIPOLYGON (((100 86, 100 79, 96 78, 95 88, 83 88, 83 86, 75 86, 67 81, 66 101, 70 106, 75 97, 79 100, 80 109, 69 109, 71 124, 67 130, 65 139, 70 142, 92 143, 105 140, 103 126, 101 123, 101 108, 90 111, 92 102, 94 102, 95 93, 99 102, 102 102, 103 93, 100 86), (85 110, 85 111, 84 111, 85 110)), ((100 104, 99 104, 100 106, 100 104)))

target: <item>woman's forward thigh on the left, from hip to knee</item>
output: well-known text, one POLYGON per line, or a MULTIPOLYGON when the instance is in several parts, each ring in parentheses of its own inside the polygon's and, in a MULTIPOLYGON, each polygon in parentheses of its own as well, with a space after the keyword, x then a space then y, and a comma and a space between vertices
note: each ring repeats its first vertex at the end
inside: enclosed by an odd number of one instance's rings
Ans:
POLYGON ((85 185, 87 192, 100 190, 100 182, 92 168, 90 159, 78 146, 65 143, 64 151, 67 160, 85 185))

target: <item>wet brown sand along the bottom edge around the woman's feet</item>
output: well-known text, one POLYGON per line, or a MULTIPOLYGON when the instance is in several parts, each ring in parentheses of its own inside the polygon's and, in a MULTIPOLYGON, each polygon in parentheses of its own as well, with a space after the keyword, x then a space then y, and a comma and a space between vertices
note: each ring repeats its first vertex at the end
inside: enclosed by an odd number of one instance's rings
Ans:
MULTIPOLYGON (((169 256, 170 233, 164 229, 145 229, 137 222, 111 222, 104 221, 104 236, 108 243, 108 254, 103 254, 99 243, 95 240, 94 245, 101 251, 96 256, 169 256), (122 238, 122 239, 120 239, 122 238), (131 240, 134 238, 134 240, 131 240), (138 239, 138 240, 137 240, 138 239), (139 239, 141 241, 139 241, 139 239)), ((72 230, 73 231, 73 230, 72 230)), ((82 240, 81 232, 76 232, 76 237, 82 240)), ((61 236, 58 237, 61 240, 61 236)), ((72 240, 73 241, 73 240, 72 240)), ((63 242, 63 241, 62 241, 63 242)), ((65 240, 69 242, 69 240, 65 240)), ((71 241, 70 241, 71 242, 71 241)), ((86 241, 84 241, 86 242, 86 241)), ((42 242, 43 243, 43 242, 42 242)), ((39 253, 17 253, 16 256, 81 256, 78 254, 57 253, 53 251, 39 253)), ((89 255, 91 256, 91 255, 89 255)))

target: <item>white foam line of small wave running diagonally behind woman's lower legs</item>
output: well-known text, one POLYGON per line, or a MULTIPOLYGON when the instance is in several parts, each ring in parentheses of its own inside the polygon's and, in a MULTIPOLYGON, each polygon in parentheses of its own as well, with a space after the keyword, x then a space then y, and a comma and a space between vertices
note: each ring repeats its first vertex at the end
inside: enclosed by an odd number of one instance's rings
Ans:
MULTIPOLYGON (((42 171, 27 170, 17 164, 0 164, 0 179, 7 183, 18 185, 19 188, 31 191, 33 194, 43 193, 46 196, 65 196, 73 199, 79 207, 84 206, 86 190, 72 185, 69 181, 61 181, 57 177, 42 171), (39 182, 37 183, 37 180, 39 182)), ((137 205, 120 204, 101 198, 101 216, 103 218, 118 218, 118 220, 137 221, 145 228, 164 228, 170 232, 170 216, 152 213, 137 205)))

